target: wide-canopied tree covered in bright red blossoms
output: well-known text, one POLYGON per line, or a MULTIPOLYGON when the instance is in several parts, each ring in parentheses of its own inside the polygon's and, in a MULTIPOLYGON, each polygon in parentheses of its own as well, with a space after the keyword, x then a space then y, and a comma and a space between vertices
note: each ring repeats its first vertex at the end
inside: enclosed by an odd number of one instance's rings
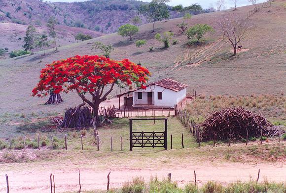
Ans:
POLYGON ((148 76, 150 72, 146 68, 128 59, 115 61, 103 56, 75 56, 47 64, 41 70, 40 80, 32 95, 41 97, 50 92, 58 94, 76 91, 92 107, 93 117, 99 126, 99 105, 107 99, 114 85, 132 85, 133 82, 145 89, 144 83, 148 76))

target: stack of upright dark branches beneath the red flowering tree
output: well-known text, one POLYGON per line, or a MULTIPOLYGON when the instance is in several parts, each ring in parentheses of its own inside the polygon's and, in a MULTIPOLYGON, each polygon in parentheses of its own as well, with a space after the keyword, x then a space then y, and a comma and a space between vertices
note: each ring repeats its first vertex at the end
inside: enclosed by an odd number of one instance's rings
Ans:
POLYGON ((61 128, 88 128, 93 126, 93 117, 91 108, 84 106, 85 103, 78 107, 69 108, 65 113, 65 118, 61 123, 61 128))

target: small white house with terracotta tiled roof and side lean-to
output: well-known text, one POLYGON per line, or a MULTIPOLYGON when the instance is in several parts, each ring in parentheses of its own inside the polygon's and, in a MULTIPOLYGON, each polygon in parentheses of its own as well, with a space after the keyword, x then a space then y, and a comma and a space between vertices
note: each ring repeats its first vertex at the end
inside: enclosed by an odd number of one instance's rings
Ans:
POLYGON ((117 97, 125 95, 124 105, 127 106, 169 108, 174 107, 186 97, 187 87, 185 84, 165 78, 146 85, 146 89, 131 90, 117 97))

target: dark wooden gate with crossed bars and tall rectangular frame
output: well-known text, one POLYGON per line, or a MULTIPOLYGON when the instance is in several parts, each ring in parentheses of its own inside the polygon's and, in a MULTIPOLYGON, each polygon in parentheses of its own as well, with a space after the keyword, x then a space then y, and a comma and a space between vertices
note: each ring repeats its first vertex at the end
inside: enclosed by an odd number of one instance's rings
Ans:
POLYGON ((167 143, 167 120, 165 118, 158 119, 129 119, 129 137, 130 137, 130 151, 133 150, 134 147, 163 147, 165 150, 168 149, 167 143), (132 121, 143 121, 143 120, 164 120, 165 121, 165 131, 162 132, 133 132, 132 131, 132 121))

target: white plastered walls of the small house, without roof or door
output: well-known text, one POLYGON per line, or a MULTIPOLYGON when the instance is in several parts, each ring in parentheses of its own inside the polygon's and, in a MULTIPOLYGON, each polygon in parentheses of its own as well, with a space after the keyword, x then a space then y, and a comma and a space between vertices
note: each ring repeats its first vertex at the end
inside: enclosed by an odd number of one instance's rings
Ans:
POLYGON ((152 92, 154 106, 160 107, 174 107, 175 104, 179 103, 186 97, 186 89, 176 92, 164 87, 152 85, 146 88, 146 90, 137 90, 133 92, 133 105, 136 104, 147 104, 147 93, 152 92), (142 99, 138 99, 138 92, 142 92, 142 99), (162 92, 162 99, 158 100, 158 92, 162 92))

